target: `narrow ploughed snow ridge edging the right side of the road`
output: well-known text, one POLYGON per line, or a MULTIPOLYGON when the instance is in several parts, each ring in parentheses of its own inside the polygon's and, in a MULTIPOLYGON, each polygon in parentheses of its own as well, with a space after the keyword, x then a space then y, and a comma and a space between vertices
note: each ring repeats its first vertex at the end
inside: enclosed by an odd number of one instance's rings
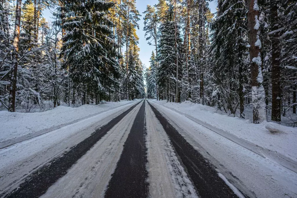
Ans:
MULTIPOLYGON (((150 100, 150 102, 153 102, 150 100)), ((166 107, 162 104, 157 104, 155 102, 153 102, 154 104, 156 105, 160 105, 162 107, 165 107, 167 109, 170 109, 170 110, 173 110, 175 111, 176 113, 179 113, 181 115, 184 115, 185 117, 189 118, 190 120, 204 126, 205 128, 227 138, 228 140, 240 145, 240 146, 243 146, 244 148, 248 149, 249 151, 252 151, 264 158, 268 157, 274 161, 276 161, 277 163, 279 163, 280 165, 282 165, 283 167, 293 171, 293 172, 296 172, 297 173, 297 161, 291 159, 291 158, 288 158, 284 155, 282 155, 281 153, 278 153, 277 151, 271 151, 267 148, 263 148, 259 145, 256 145, 255 143, 253 142, 249 142, 248 140, 244 140, 244 139, 241 139, 239 137, 237 137, 236 135, 234 134, 230 134, 229 132, 226 132, 226 131, 223 131, 222 129, 218 129, 217 127, 214 127, 214 126, 211 126, 210 124, 208 123, 205 123, 197 118, 194 118, 193 116, 191 115, 187 115, 185 113, 182 113, 174 108, 171 108, 171 107, 166 107)))

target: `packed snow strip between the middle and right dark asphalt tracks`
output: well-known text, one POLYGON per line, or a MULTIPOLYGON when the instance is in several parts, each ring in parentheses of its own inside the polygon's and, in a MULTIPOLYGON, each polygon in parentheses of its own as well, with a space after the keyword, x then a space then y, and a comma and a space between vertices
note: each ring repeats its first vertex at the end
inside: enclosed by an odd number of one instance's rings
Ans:
POLYGON ((151 197, 198 197, 161 123, 146 106, 147 148, 151 197))

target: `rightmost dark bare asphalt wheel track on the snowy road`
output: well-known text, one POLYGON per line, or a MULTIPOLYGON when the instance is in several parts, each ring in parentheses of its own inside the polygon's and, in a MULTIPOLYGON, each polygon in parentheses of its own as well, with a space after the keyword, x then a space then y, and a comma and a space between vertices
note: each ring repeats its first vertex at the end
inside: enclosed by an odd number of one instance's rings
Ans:
MULTIPOLYGON (((149 103, 149 102, 148 102, 149 103)), ((214 166, 196 151, 178 131, 149 103, 167 133, 200 197, 238 197, 219 177, 214 166)))

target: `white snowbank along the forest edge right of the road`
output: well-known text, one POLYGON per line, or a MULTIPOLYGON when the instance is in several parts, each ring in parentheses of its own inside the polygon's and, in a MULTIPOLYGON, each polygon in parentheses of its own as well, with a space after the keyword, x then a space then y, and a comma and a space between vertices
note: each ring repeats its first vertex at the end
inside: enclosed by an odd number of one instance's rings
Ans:
POLYGON ((282 126, 274 122, 254 124, 250 120, 231 117, 216 108, 189 101, 181 104, 166 100, 152 100, 152 102, 190 115, 212 127, 297 161, 297 128, 295 127, 282 126))

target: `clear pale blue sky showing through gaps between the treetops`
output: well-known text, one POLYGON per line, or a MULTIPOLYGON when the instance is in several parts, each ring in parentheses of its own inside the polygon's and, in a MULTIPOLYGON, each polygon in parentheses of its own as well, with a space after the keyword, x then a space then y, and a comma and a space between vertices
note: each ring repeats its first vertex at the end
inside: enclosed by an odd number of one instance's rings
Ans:
MULTIPOLYGON (((140 17, 140 21, 139 23, 139 30, 137 30, 137 35, 139 37, 139 48, 140 48, 140 52, 139 52, 139 56, 140 56, 140 60, 143 62, 143 64, 145 64, 147 67, 149 66, 149 59, 151 57, 151 52, 155 49, 154 46, 150 46, 149 44, 147 44, 147 41, 144 37, 144 31, 143 31, 143 12, 146 9, 146 5, 150 4, 150 5, 154 5, 157 4, 158 0, 136 0, 136 6, 138 11, 140 12, 140 14, 142 15, 140 17)), ((209 7, 211 9, 211 12, 216 12, 216 6, 217 6, 217 0, 214 0, 212 2, 208 2, 209 3, 209 7)), ((43 12, 43 16, 47 19, 47 20, 51 20, 50 17, 52 16, 52 14, 50 13, 50 10, 45 10, 43 12)))

